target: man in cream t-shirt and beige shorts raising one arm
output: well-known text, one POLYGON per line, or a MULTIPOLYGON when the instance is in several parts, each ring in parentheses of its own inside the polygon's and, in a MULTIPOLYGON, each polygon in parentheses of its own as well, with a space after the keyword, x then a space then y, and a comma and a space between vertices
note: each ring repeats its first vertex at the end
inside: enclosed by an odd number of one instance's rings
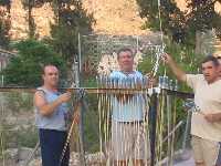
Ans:
POLYGON ((219 62, 207 56, 202 74, 186 74, 168 54, 162 60, 179 81, 186 82, 194 92, 194 103, 200 112, 192 113, 191 135, 196 166, 221 165, 221 80, 219 62))

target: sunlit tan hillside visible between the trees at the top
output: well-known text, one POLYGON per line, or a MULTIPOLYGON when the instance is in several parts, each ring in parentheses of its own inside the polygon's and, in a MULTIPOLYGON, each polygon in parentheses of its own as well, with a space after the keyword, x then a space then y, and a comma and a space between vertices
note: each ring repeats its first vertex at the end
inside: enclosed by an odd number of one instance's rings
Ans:
MULTIPOLYGON (((185 0, 176 0, 181 10, 186 10, 185 0)), ((151 33, 141 30, 144 20, 139 18, 136 0, 84 0, 83 6, 94 14, 96 24, 94 33, 110 35, 141 35, 151 33)), ((221 12, 221 4, 215 4, 215 10, 221 12)), ((53 22, 53 11, 49 3, 32 11, 40 37, 50 35, 50 22, 53 22)), ((22 8, 21 0, 13 0, 11 6, 12 40, 24 39, 28 32, 27 11, 22 8)), ((218 45, 220 45, 218 43, 218 45)), ((219 48, 219 46, 218 46, 219 48)))

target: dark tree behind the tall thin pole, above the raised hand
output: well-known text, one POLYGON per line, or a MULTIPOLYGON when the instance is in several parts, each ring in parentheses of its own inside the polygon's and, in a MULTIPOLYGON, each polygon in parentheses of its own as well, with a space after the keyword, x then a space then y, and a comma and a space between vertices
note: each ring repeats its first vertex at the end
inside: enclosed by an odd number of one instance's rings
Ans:
POLYGON ((161 28, 166 35, 171 37, 176 42, 183 42, 186 38, 186 27, 183 12, 176 6, 172 0, 160 1, 160 18, 157 0, 137 0, 139 6, 139 14, 146 19, 145 29, 152 31, 160 30, 161 28))

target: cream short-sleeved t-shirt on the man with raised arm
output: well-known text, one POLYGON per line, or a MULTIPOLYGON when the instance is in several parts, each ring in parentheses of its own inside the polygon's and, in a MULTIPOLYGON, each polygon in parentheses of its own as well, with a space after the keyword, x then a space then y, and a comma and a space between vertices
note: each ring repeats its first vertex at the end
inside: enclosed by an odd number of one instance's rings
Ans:
MULTIPOLYGON (((203 113, 221 113, 221 80, 211 84, 202 74, 187 74, 187 84, 194 91, 194 103, 203 113)), ((192 113, 191 134, 221 142, 221 121, 210 123, 200 113, 192 113)))

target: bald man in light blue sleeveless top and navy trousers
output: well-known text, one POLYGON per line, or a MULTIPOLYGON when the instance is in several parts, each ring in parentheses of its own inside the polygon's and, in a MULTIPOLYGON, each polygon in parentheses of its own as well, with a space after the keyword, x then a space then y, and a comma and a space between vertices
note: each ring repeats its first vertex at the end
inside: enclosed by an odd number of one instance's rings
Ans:
POLYGON ((60 159, 67 137, 65 116, 67 115, 66 102, 70 101, 71 93, 59 92, 59 70, 55 65, 45 65, 42 79, 43 85, 38 87, 33 98, 42 166, 69 166, 69 146, 62 163, 60 159))

